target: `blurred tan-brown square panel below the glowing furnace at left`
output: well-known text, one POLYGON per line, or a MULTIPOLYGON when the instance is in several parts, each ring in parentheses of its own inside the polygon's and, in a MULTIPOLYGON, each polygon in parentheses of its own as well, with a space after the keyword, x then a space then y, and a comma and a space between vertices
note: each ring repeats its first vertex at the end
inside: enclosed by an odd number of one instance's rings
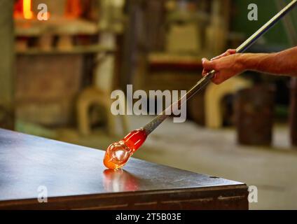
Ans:
POLYGON ((82 55, 19 55, 15 80, 17 118, 41 125, 71 123, 82 71, 82 55))

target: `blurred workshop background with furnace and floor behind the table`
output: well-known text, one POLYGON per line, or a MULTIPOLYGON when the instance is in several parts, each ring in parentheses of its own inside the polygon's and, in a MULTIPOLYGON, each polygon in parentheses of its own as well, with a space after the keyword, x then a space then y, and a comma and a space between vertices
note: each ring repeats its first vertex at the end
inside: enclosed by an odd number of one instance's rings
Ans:
MULTIPOLYGON (((188 90, 202 57, 237 48, 286 3, 1 0, 0 127, 105 149, 152 118, 112 116, 112 90, 188 90), (40 3, 48 20, 37 19, 40 3)), ((296 22, 293 10, 249 52, 297 45, 296 22)), ((134 156, 256 186, 251 209, 297 209, 296 79, 248 71, 208 85, 187 113, 134 156)))

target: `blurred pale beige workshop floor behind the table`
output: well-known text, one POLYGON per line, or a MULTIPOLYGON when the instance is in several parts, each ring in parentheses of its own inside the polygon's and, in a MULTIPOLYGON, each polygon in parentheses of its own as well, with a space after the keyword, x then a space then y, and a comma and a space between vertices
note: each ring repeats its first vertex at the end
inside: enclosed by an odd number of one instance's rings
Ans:
MULTIPOLYGON (((130 129, 148 120, 132 117, 130 129)), ((102 131, 80 137, 74 130, 62 130, 59 140, 105 149, 118 137, 102 131)), ((166 120, 134 157, 256 186, 258 203, 250 204, 250 209, 297 209, 297 150, 289 146, 286 127, 275 128, 272 148, 245 147, 236 144, 233 129, 207 130, 191 122, 166 120)))

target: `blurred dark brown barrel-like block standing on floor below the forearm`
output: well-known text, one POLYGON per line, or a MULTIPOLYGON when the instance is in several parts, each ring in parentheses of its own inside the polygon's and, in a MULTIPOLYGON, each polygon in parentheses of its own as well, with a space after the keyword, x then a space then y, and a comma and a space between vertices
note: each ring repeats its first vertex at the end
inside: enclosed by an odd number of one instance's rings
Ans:
POLYGON ((237 141, 242 145, 270 146, 275 106, 275 90, 258 85, 235 95, 237 141))

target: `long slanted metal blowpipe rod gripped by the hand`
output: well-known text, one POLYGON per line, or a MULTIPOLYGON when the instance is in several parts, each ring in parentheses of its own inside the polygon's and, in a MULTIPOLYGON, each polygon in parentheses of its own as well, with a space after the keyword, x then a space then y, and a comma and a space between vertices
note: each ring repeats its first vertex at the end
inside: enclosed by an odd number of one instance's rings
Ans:
MULTIPOLYGON (((284 7, 279 13, 277 13, 277 15, 275 15, 271 20, 269 20, 265 25, 263 25, 263 27, 258 29, 256 33, 251 35, 247 39, 247 41, 244 41, 244 43, 242 43, 242 45, 240 45, 236 49, 236 52, 241 53, 247 50, 255 41, 258 40, 260 36, 265 34, 271 27, 273 27, 273 25, 275 25, 279 20, 281 20, 284 17, 284 15, 289 13, 289 11, 292 10, 296 6, 296 4, 297 4, 297 0, 291 1, 291 3, 289 3, 286 7, 284 7)), ((184 102, 186 102, 188 99, 193 97, 193 95, 197 93, 199 90, 202 90, 202 88, 205 87, 205 85, 207 85, 207 83, 209 83, 209 81, 212 80, 212 78, 214 78, 215 73, 216 71, 214 70, 209 71, 209 73, 207 73, 206 76, 201 78, 198 81, 198 83, 196 83, 191 88, 191 90, 188 90, 188 92, 184 96, 182 96, 177 102, 174 102, 171 106, 169 106, 162 113, 156 116, 156 118, 151 120, 150 123, 145 125, 143 129, 146 131, 146 134, 151 134, 153 130, 155 130, 161 123, 163 123, 163 121, 171 115, 171 111, 174 108, 180 108, 184 102)))

